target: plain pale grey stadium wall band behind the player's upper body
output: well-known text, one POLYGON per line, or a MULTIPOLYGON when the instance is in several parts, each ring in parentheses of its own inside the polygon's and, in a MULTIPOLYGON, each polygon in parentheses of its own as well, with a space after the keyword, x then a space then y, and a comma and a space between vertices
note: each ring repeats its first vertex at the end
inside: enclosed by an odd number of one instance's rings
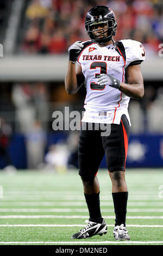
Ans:
MULTIPOLYGON (((141 64, 144 80, 163 80, 162 58, 147 57, 141 64)), ((64 81, 67 60, 66 54, 3 57, 0 81, 64 81)))

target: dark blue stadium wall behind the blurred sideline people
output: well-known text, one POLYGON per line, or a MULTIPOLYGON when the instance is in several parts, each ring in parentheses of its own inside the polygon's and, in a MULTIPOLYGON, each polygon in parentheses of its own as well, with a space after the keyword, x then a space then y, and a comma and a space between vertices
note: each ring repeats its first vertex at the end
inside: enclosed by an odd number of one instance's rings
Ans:
MULTIPOLYGON (((47 148, 49 145, 66 139, 67 133, 55 132, 47 135, 47 148)), ((130 153, 127 157, 127 168, 158 168, 163 165, 163 138, 162 135, 130 135, 130 153)), ((45 153, 46 153, 45 151, 45 153)), ((14 166, 17 169, 27 169, 27 154, 25 137, 15 133, 12 138, 9 154, 14 166)), ((0 169, 5 167, 3 158, 0 157, 0 169)), ((101 168, 106 168, 105 157, 102 160, 101 168)))

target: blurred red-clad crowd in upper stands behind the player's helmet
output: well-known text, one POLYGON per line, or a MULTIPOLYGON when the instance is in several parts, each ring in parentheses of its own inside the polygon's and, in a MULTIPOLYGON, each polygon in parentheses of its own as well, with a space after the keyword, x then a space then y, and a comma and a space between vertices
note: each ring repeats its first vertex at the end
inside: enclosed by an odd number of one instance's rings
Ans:
POLYGON ((21 52, 64 53, 77 40, 89 40, 84 18, 98 4, 114 10, 117 19, 115 40, 133 39, 158 51, 163 41, 161 0, 30 0, 28 1, 21 52))

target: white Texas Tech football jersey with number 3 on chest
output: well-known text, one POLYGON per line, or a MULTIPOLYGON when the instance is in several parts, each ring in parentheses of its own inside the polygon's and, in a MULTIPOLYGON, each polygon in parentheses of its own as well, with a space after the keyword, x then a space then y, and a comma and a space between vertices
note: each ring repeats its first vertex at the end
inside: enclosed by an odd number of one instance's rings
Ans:
POLYGON ((134 40, 119 41, 123 46, 122 54, 114 44, 104 47, 91 43, 80 53, 77 63, 82 66, 85 77, 86 98, 82 121, 90 123, 120 124, 122 114, 126 114, 129 124, 128 103, 130 97, 110 86, 99 86, 97 75, 110 74, 125 82, 125 69, 145 60, 145 49, 141 42, 134 40), (126 56, 125 56, 126 54, 126 56))

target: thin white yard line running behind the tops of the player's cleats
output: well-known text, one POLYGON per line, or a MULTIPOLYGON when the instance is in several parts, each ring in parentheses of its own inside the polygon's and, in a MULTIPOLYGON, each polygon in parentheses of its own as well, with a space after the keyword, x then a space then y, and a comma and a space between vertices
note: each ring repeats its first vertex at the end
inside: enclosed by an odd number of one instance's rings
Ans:
MULTIPOLYGON (((0 224, 0 227, 83 227, 84 224, 0 224)), ((107 225, 114 227, 114 225, 107 225)), ((163 225, 137 225, 130 224, 127 227, 135 228, 163 228, 163 225)))

